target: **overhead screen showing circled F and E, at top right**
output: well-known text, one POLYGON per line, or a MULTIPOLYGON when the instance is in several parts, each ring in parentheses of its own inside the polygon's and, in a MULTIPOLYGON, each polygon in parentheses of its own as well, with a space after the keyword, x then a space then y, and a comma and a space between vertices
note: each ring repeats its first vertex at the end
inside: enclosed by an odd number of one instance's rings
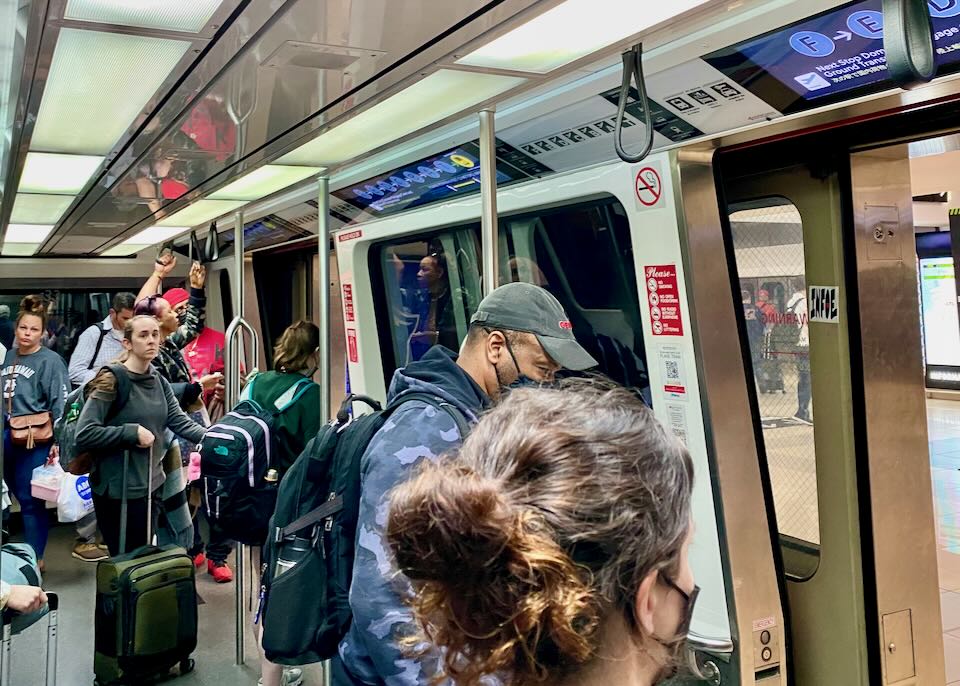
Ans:
MULTIPOLYGON (((960 62, 960 0, 929 0, 940 74, 960 62)), ((890 87, 881 0, 863 0, 703 58, 785 114, 890 87)))

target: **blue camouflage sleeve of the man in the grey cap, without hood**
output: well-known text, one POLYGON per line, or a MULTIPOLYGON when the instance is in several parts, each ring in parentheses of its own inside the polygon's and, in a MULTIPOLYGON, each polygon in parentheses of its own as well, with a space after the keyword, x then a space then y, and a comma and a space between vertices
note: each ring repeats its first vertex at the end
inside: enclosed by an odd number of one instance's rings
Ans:
MULTIPOLYGON (((408 657, 403 639, 416 635, 407 606, 409 581, 396 571, 384 540, 390 491, 424 459, 436 460, 460 445, 450 416, 418 401, 398 410, 374 437, 363 457, 356 560, 350 588, 353 626, 341 658, 357 677, 387 686, 427 686, 439 656, 429 649, 408 657)), ((414 650, 419 652, 420 648, 414 650)))

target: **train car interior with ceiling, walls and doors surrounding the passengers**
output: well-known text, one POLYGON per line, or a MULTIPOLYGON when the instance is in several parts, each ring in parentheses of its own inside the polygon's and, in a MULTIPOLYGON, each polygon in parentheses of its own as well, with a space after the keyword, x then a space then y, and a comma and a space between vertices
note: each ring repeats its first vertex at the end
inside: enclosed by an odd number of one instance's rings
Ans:
MULTIPOLYGON (((692 682, 960 684, 960 3, 0 0, 0 57, 0 305, 45 294, 54 349, 169 249, 228 395, 310 319, 332 417, 542 286, 693 457, 692 682)), ((176 683, 257 681, 230 564, 176 683)), ((29 631, 10 683, 42 683, 29 631)))

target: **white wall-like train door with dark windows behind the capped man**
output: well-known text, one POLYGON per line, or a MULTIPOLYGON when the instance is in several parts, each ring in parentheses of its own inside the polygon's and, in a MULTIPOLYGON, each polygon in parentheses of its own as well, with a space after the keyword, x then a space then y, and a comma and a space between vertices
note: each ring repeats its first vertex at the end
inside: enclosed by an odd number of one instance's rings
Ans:
MULTIPOLYGON (((712 462, 673 180, 665 156, 655 164, 652 205, 635 197, 641 167, 622 164, 498 192, 500 281, 552 292, 600 371, 642 394, 694 456, 695 671, 710 684, 786 684, 757 461, 712 462)), ((479 214, 467 200, 336 235, 354 392, 382 399, 395 369, 431 345, 459 347, 480 299, 479 214)))

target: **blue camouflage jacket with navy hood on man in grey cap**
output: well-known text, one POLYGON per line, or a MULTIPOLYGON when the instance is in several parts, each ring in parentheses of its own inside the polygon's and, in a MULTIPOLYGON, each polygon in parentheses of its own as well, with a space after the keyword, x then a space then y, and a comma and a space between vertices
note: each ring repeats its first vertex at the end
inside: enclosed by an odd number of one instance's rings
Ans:
MULTIPOLYGON (((455 353, 434 346, 423 358, 398 369, 387 400, 410 392, 437 395, 475 423, 489 399, 456 364, 455 353)), ((416 660, 404 657, 400 640, 415 631, 404 603, 410 583, 395 571, 386 545, 389 498, 421 460, 436 460, 462 441, 453 419, 418 400, 402 405, 378 431, 361 463, 360 514, 350 587, 353 624, 340 643, 340 659, 355 685, 427 686, 439 666, 434 651, 416 660)), ((339 686, 339 685, 338 685, 339 686)))

